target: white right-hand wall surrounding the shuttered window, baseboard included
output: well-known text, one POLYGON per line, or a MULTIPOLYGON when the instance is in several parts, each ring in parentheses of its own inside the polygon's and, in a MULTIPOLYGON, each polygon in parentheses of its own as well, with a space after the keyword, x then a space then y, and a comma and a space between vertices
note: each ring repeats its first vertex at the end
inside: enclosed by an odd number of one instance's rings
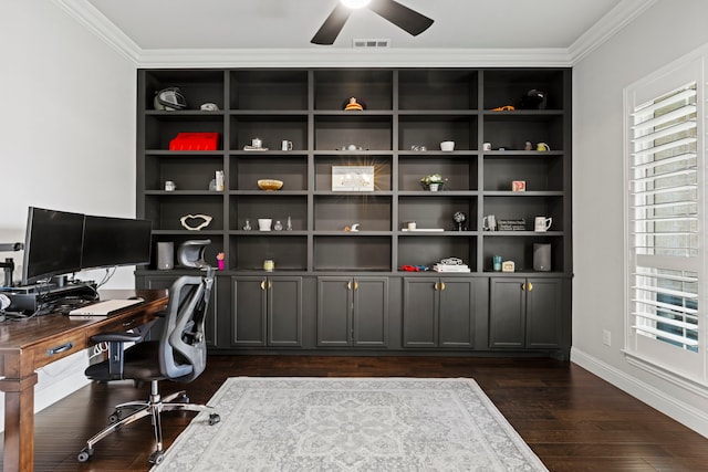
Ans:
POLYGON ((659 0, 574 67, 572 359, 708 437, 705 397, 631 367, 621 352, 623 90, 706 44, 706 18, 705 0, 659 0))

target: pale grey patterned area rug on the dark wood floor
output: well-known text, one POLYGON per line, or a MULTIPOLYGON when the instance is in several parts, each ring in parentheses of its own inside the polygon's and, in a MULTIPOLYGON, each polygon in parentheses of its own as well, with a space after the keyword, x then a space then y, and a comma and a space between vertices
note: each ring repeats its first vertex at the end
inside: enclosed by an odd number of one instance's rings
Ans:
POLYGON ((546 471, 471 379, 229 378, 163 471, 546 471))

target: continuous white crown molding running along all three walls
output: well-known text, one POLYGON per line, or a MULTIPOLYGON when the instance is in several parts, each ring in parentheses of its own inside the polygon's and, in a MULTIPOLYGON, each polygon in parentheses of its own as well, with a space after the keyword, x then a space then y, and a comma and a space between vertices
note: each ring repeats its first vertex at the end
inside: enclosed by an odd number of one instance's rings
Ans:
POLYGON ((143 50, 87 0, 51 0, 118 54, 144 69, 177 67, 569 67, 657 0, 622 0, 570 48, 549 49, 170 49, 143 50))

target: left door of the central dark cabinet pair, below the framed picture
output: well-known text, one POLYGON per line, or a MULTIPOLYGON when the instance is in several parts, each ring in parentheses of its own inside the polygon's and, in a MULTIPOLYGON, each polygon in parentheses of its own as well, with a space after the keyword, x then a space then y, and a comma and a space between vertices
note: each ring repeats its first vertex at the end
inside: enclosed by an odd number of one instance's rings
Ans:
POLYGON ((351 277, 317 279, 317 346, 348 346, 352 313, 351 277))

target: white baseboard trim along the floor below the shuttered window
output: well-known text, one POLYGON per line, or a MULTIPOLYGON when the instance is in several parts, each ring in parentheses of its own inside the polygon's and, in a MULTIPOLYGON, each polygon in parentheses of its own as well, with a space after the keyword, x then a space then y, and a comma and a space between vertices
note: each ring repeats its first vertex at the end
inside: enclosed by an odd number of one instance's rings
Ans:
POLYGON ((708 412, 705 409, 698 409, 693 405, 671 398, 656 387, 575 347, 571 348, 571 361, 708 438, 708 412))

